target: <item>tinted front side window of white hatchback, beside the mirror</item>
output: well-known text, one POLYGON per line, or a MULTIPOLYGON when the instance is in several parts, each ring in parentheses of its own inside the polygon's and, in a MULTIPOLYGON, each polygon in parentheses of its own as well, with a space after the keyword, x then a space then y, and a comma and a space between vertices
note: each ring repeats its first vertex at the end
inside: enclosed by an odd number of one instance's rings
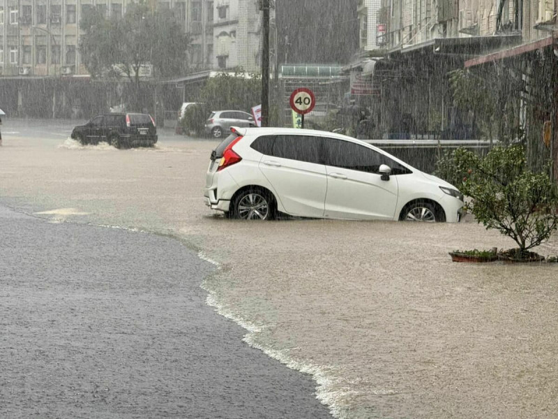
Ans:
POLYGON ((354 142, 326 138, 326 164, 337 168, 359 170, 360 172, 379 173, 379 166, 386 164, 393 175, 402 175, 411 171, 390 159, 385 154, 354 142))

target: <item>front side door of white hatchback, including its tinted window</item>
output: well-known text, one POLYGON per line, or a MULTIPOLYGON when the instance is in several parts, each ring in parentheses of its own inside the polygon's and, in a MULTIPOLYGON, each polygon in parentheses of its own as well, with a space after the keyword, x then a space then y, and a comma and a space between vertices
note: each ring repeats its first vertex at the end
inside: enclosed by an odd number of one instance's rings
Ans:
POLYGON ((324 216, 393 219, 398 200, 397 177, 382 180, 378 172, 381 164, 393 162, 388 156, 337 138, 324 139, 324 151, 327 173, 324 216))

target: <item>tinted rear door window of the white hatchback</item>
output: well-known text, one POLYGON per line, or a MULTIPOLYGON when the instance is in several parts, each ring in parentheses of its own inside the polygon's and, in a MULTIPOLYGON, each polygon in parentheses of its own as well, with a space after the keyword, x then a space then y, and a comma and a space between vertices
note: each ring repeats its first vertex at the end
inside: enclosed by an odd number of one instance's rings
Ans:
POLYGON ((277 135, 272 153, 282 159, 324 164, 322 139, 310 135, 277 135))

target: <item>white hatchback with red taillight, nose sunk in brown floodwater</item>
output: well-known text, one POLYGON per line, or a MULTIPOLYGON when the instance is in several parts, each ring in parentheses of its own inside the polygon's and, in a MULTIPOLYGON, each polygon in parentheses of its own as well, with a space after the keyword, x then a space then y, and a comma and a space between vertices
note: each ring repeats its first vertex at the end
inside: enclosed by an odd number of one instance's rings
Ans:
POLYGON ((239 219, 278 212, 325 219, 460 221, 448 182, 346 135, 231 128, 211 153, 206 205, 239 219))

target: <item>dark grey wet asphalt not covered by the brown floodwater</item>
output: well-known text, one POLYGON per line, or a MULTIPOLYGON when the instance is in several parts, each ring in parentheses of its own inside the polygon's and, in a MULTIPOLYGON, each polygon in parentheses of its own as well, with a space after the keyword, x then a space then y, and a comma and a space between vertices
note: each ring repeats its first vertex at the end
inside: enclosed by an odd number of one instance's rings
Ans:
POLYGON ((324 418, 311 377, 206 305, 169 237, 0 206, 1 418, 324 418))

